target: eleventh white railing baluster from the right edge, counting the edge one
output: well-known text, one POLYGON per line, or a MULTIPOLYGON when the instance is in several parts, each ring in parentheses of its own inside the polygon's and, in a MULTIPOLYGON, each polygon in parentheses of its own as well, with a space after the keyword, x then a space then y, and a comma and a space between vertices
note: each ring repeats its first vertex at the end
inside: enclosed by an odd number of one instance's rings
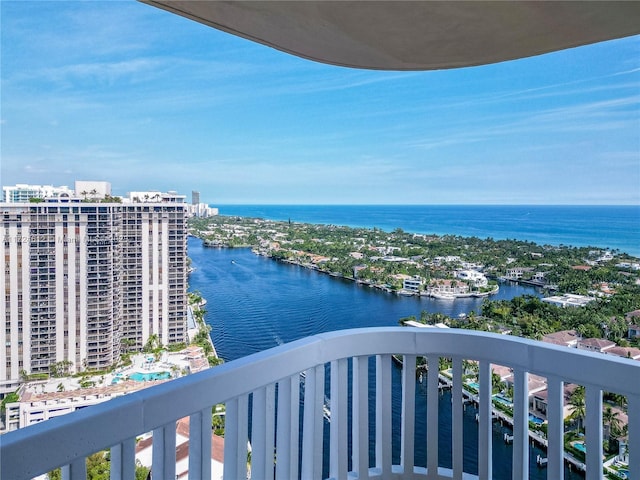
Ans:
POLYGON ((349 452, 347 449, 347 359, 331 362, 331 423, 329 424, 329 474, 346 480, 349 452))

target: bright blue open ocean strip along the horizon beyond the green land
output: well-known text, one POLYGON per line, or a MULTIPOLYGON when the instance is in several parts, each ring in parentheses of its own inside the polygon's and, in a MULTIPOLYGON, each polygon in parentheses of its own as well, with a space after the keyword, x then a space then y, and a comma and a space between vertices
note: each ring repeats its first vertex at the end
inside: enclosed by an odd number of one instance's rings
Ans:
POLYGON ((222 205, 221 215, 593 246, 640 257, 640 205, 222 205))

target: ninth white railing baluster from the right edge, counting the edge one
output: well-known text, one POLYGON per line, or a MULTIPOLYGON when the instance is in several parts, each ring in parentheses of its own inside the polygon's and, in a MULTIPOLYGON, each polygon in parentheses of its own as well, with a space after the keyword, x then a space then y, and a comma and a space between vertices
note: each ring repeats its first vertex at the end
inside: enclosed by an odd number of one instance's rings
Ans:
POLYGON ((376 469, 391 475, 391 355, 376 356, 376 469))

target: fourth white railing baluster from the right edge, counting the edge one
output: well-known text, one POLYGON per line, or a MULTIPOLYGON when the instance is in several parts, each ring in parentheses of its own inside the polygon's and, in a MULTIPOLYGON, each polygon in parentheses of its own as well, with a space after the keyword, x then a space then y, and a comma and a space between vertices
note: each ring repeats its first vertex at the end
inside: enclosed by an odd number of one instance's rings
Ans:
POLYGON ((513 480, 529 478, 529 374, 513 371, 513 480))

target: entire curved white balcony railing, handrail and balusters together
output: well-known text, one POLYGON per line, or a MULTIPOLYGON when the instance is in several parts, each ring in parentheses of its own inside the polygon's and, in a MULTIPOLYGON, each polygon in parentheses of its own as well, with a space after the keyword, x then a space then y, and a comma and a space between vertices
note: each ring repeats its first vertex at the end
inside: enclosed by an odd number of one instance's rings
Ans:
POLYGON ((84 479, 85 458, 110 448, 111 478, 131 479, 135 439, 151 431, 153 478, 175 478, 176 421, 186 416, 189 478, 210 478, 211 409, 218 403, 226 404, 225 479, 247 478, 249 439, 253 479, 319 479, 327 457, 335 479, 475 478, 463 472, 464 359, 479 362, 480 479, 492 478, 491 364, 508 366, 515 376, 514 479, 529 475, 529 373, 548 381, 548 478, 564 476, 564 382, 586 391, 586 478, 602 478, 603 391, 627 397, 628 478, 640 478, 640 362, 509 336, 405 327, 316 335, 10 432, 0 437, 0 478, 28 479, 62 466, 63 478, 84 479), (392 354, 404 356, 399 415, 392 415, 392 354), (450 469, 438 466, 437 375, 427 376, 426 438, 414 439, 418 356, 426 356, 428 365, 438 365, 441 356, 453 359, 450 469), (323 448, 326 394, 328 451, 323 448), (400 425, 393 425, 398 418, 400 425), (392 462, 393 428, 401 432, 399 464, 392 462), (426 462, 418 466, 416 448, 425 444, 426 462))

